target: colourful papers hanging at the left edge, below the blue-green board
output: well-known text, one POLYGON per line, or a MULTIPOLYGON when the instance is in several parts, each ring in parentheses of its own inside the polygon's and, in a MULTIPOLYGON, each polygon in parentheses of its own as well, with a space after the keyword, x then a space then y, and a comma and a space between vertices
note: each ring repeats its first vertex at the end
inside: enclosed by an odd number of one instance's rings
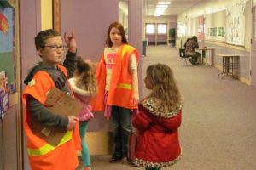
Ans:
POLYGON ((8 89, 6 71, 0 71, 0 118, 2 119, 8 110, 8 89))

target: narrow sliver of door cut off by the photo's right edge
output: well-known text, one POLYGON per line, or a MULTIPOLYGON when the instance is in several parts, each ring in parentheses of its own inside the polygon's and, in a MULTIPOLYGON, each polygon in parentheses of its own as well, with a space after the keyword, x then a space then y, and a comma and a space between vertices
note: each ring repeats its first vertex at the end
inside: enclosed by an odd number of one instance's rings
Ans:
POLYGON ((256 0, 253 0, 253 37, 252 37, 252 47, 251 47, 251 78, 252 78, 252 86, 256 87, 256 0))

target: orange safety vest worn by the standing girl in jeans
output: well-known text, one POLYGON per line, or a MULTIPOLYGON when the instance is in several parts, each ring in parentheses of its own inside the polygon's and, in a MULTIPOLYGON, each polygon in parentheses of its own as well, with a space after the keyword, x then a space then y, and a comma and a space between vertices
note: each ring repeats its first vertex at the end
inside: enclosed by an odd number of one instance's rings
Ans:
MULTIPOLYGON (((118 105, 128 109, 137 108, 137 104, 134 104, 132 101, 132 77, 129 72, 129 58, 131 54, 135 54, 138 65, 137 50, 130 45, 122 45, 116 54, 109 84, 108 105, 118 105)), ((92 99, 92 108, 94 111, 103 111, 103 98, 106 85, 106 65, 103 54, 96 69, 96 80, 98 94, 95 99, 92 99)))

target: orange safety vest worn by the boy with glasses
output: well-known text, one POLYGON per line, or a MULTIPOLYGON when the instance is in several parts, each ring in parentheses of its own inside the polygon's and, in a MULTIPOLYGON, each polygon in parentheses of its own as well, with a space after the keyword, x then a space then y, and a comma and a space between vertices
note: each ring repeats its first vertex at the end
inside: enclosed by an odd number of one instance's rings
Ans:
MULTIPOLYGON (((67 76, 65 67, 58 65, 61 71, 67 76)), ((22 94, 24 104, 23 122, 27 137, 27 154, 32 170, 74 170, 79 165, 76 150, 81 150, 79 137, 79 123, 73 131, 67 131, 61 139, 60 144, 52 146, 44 139, 32 133, 28 122, 31 115, 26 109, 27 95, 31 95, 40 103, 44 104, 46 93, 55 87, 55 83, 46 71, 38 71, 22 94)))

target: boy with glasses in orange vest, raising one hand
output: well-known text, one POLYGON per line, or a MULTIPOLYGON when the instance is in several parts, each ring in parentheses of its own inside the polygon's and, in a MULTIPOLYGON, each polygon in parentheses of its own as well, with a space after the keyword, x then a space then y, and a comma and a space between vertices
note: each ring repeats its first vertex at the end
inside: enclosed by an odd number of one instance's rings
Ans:
POLYGON ((65 33, 68 52, 61 65, 64 48, 61 34, 49 29, 35 37, 38 55, 42 59, 34 66, 25 79, 24 127, 27 137, 27 154, 32 169, 75 169, 79 165, 76 150, 80 150, 79 119, 75 116, 61 116, 49 111, 45 106, 46 94, 52 88, 59 88, 73 94, 68 78, 73 77, 76 66, 77 44, 72 35, 65 33), (60 144, 53 146, 32 133, 30 122, 37 121, 44 127, 67 129, 60 144))

